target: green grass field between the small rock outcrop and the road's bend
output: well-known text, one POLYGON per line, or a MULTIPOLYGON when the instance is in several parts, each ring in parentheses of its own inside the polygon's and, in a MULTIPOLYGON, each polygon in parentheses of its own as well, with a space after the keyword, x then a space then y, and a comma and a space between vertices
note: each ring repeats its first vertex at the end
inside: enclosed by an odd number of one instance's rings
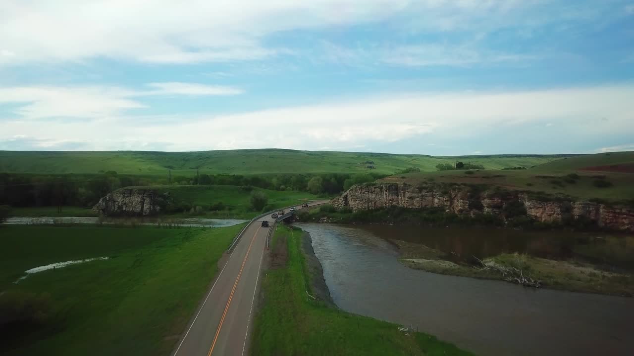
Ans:
POLYGON ((159 193, 169 193, 174 197, 177 205, 203 207, 204 213, 197 215, 233 219, 250 219, 261 213, 252 210, 250 207, 250 196, 253 191, 261 191, 268 196, 268 204, 271 210, 290 205, 300 205, 305 200, 320 199, 314 194, 301 191, 274 191, 261 188, 248 190, 238 186, 145 186, 128 188, 155 189, 159 193), (221 210, 209 210, 209 207, 217 206, 219 203, 222 203, 225 207, 221 210))

